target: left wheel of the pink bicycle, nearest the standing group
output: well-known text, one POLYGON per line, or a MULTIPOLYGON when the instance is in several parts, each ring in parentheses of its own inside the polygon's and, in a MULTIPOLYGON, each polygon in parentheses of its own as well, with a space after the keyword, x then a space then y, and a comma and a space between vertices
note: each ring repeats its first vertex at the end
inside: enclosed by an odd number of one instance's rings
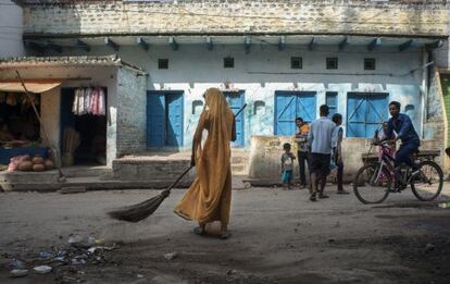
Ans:
POLYGON ((380 164, 366 164, 354 176, 354 195, 364 205, 380 203, 389 195, 392 178, 380 170, 380 164))

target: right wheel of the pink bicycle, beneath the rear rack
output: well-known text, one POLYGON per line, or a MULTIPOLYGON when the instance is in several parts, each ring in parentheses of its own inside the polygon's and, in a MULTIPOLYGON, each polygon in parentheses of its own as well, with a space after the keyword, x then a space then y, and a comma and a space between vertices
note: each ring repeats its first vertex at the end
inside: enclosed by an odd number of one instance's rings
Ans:
POLYGON ((423 161, 418 165, 421 166, 421 173, 411 180, 411 189, 418 200, 432 201, 442 190, 442 170, 433 161, 423 161))

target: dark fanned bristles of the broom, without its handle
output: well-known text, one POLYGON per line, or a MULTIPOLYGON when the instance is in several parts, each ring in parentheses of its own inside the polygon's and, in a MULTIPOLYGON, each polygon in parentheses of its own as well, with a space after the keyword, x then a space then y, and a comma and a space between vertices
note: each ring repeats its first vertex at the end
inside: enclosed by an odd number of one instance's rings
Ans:
POLYGON ((162 201, 168 196, 165 192, 166 190, 143 202, 110 211, 108 214, 111 218, 121 221, 139 222, 151 215, 160 207, 162 201))

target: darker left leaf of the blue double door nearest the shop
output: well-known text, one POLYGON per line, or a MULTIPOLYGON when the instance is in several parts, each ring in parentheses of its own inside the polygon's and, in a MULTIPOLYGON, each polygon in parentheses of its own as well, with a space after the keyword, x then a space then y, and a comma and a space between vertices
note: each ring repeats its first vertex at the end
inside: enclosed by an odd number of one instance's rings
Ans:
POLYGON ((147 146, 165 145, 165 95, 147 92, 147 146))

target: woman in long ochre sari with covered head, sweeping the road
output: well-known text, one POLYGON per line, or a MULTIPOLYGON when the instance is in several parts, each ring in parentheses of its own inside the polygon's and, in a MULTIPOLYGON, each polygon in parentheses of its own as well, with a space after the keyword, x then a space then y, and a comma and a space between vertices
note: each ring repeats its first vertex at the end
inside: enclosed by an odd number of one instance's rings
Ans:
POLYGON ((179 203, 175 213, 186 220, 195 220, 196 234, 204 235, 208 223, 221 222, 221 237, 229 237, 227 230, 232 203, 230 140, 236 139, 235 119, 225 96, 217 88, 204 94, 205 109, 193 135, 191 164, 197 177, 179 203), (202 147, 202 133, 208 138, 202 147))

